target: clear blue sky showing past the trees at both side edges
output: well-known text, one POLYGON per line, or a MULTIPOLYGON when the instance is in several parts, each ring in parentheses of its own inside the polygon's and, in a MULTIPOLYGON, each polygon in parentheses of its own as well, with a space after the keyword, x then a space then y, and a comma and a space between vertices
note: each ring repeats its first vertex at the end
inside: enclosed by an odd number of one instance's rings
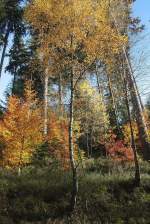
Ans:
MULTIPOLYGON (((140 17, 142 23, 146 25, 145 31, 141 35, 142 40, 134 46, 132 51, 135 76, 137 77, 142 99, 145 101, 150 92, 150 0, 136 0, 133 5, 133 14, 140 17)), ((5 64, 7 64, 7 59, 5 59, 5 64)), ((4 100, 4 91, 11 79, 12 77, 3 70, 0 79, 0 99, 2 100, 4 100)))

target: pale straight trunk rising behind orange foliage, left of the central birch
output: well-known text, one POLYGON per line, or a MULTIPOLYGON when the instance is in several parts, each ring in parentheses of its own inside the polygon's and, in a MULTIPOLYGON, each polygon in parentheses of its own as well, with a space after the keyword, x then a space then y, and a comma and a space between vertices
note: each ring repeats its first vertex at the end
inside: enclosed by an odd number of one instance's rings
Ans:
POLYGON ((48 70, 44 77, 44 135, 48 134, 48 70))

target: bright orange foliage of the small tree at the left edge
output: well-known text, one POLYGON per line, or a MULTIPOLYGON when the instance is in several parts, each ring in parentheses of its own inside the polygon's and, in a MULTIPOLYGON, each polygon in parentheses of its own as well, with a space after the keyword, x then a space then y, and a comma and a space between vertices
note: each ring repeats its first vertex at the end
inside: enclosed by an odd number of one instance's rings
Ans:
POLYGON ((34 91, 26 86, 24 99, 11 96, 0 122, 3 165, 21 167, 30 162, 36 146, 43 141, 41 113, 34 91))

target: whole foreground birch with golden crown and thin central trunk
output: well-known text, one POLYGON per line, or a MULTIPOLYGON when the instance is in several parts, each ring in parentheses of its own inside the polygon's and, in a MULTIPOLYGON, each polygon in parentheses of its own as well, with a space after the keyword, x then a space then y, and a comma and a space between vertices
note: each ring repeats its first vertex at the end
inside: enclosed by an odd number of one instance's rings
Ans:
MULTIPOLYGON (((119 53, 125 36, 118 35, 109 23, 107 1, 34 0, 26 17, 39 33, 40 50, 68 71, 70 86, 69 151, 73 173, 71 210, 78 193, 77 165, 74 159, 73 126, 76 84, 91 64, 99 58, 107 63, 109 52, 119 53), (63 57, 62 57, 63 56, 63 57)), ((55 64, 55 63, 54 63, 55 64)))

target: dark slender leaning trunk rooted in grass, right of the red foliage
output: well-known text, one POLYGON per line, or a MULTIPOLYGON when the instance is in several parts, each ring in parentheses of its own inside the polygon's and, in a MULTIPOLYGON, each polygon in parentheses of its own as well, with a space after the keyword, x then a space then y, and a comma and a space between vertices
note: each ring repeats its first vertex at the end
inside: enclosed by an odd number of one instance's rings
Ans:
POLYGON ((125 102, 126 102, 127 113, 128 113, 128 118, 129 118, 129 124, 130 124, 131 147, 132 147, 133 154, 134 154, 135 184, 136 184, 136 186, 139 186, 140 179, 141 179, 140 178, 140 167, 139 167, 139 162, 138 162, 138 158, 137 158, 137 150, 136 150, 136 144, 135 144, 135 138, 134 138, 134 131, 133 131, 132 121, 131 121, 131 112, 130 112, 130 106, 129 106, 127 80, 126 80, 126 76, 125 76, 125 70, 124 70, 124 75, 123 75, 122 79, 123 79, 123 83, 124 83, 125 102))

